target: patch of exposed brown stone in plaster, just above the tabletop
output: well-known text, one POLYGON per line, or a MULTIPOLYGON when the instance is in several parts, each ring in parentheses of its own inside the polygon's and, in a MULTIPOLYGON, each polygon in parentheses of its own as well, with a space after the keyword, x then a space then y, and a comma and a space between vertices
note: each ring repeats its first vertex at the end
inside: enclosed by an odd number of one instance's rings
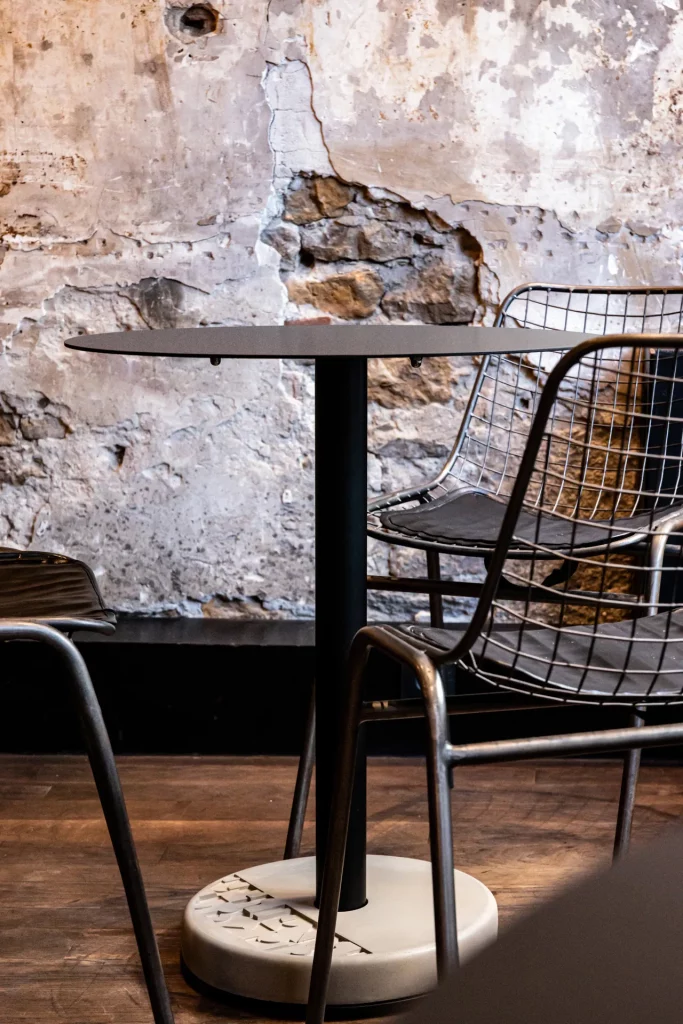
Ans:
POLYGON ((428 210, 335 177, 297 178, 262 236, 290 302, 342 321, 470 324, 481 247, 428 210))

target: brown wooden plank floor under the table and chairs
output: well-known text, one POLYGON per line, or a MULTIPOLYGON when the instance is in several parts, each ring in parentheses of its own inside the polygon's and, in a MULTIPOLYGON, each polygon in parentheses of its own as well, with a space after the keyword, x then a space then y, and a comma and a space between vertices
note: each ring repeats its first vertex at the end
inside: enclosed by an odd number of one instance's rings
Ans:
MULTIPOLYGON (((250 1020, 195 993, 178 970, 182 908, 220 874, 276 859, 295 764, 284 758, 125 758, 133 819, 178 1024, 250 1020)), ((616 764, 538 762, 456 773, 460 867, 503 924, 609 860, 616 764)), ((424 768, 370 767, 371 852, 428 857, 424 768)), ((646 767, 641 843, 683 809, 683 768, 646 767)), ((307 825, 310 847, 312 830, 307 825)), ((0 757, 0 1024, 150 1024, 116 864, 86 762, 0 757)))

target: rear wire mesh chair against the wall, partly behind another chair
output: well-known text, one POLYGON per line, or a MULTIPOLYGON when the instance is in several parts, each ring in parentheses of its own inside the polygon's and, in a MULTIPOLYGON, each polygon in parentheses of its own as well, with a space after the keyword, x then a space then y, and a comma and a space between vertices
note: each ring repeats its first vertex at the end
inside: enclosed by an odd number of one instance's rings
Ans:
MULTIPOLYGON (((683 330, 683 287, 522 285, 501 304, 496 326, 578 331, 596 336, 610 333, 679 333, 683 330)), ((408 489, 384 495, 369 505, 369 535, 389 544, 425 551, 427 577, 371 575, 368 579, 369 589, 428 593, 431 625, 434 627, 443 626, 443 595, 476 598, 480 594, 481 585, 471 580, 442 579, 440 555, 476 557, 483 559, 484 564, 490 557, 539 398, 560 355, 553 352, 483 357, 453 449, 436 476, 408 489)), ((623 370, 614 376, 612 368, 607 365, 602 368, 596 376, 595 386, 606 388, 611 400, 603 402, 599 410, 593 409, 590 403, 574 402, 570 407, 571 422, 566 424, 567 429, 574 433, 589 429, 591 443, 580 450, 558 439, 552 481, 546 481, 543 494, 537 492, 533 512, 522 512, 519 523, 522 532, 533 531, 538 510, 544 516, 546 512, 552 515, 552 529, 551 520, 544 518, 544 539, 549 556, 552 554, 554 560, 549 557, 548 572, 540 581, 546 584, 545 592, 537 595, 547 602, 563 600, 556 587, 575 575, 579 568, 580 563, 564 558, 563 551, 575 540, 571 536, 566 512, 573 508, 577 481, 582 479, 582 474, 590 473, 593 481, 590 500, 585 495, 581 509, 577 510, 587 521, 582 527, 582 536, 590 545, 594 547, 597 542, 596 527, 590 524, 600 520, 605 503, 609 507, 609 488, 617 479, 622 494, 615 503, 615 515, 625 520, 622 543, 631 547, 641 541, 639 528, 643 520, 639 516, 647 510, 644 509, 643 499, 637 500, 635 492, 639 486, 638 474, 646 466, 651 472, 653 464, 633 455, 620 457, 617 454, 630 452, 630 445, 636 441, 633 423, 629 421, 627 424, 624 420, 624 407, 648 400, 644 383, 641 381, 635 388, 634 380, 625 376, 623 370), (601 487, 601 481, 604 487, 601 487)), ((567 383, 565 389, 578 385, 579 382, 574 385, 567 383)), ((644 443, 646 449, 654 451, 660 440, 654 426, 646 436, 641 428, 638 442, 644 443)), ((668 486, 672 494, 676 493, 677 480, 673 471, 668 472, 668 486)), ((659 511, 664 514, 664 499, 659 504, 659 511)), ((525 557, 523 551, 520 557, 525 557)), ((580 579, 582 575, 585 577, 585 573, 579 573, 580 579)), ((516 586, 506 572, 502 591, 513 596, 516 586)), ((634 715, 633 724, 639 723, 640 717, 634 715)), ((292 805, 287 856, 298 855, 312 759, 310 730, 307 730, 292 805)), ((626 759, 615 834, 616 853, 628 846, 637 771, 638 754, 634 753, 626 759)))

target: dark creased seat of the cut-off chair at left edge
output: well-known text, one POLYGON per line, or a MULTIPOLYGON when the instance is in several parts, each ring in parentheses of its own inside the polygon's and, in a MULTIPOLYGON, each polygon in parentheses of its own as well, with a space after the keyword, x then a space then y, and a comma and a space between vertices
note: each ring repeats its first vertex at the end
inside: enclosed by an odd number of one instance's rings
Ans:
POLYGON ((85 562, 7 548, 0 549, 0 618, 105 633, 112 633, 116 624, 85 562))

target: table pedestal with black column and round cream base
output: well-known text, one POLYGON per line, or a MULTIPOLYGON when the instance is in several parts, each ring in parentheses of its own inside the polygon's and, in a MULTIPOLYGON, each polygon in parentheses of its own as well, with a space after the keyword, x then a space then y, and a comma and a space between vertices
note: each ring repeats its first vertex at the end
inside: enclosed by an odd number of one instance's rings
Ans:
MULTIPOLYGON (((316 357, 316 857, 237 871, 189 901, 183 958, 214 991, 292 1004, 304 1004, 308 995, 347 656, 366 622, 367 374, 365 356, 316 357)), ((458 871, 457 887, 460 950, 466 957, 494 938, 497 908, 476 879, 458 871)), ((353 1005, 362 1016, 359 1005, 383 1002, 388 1012, 397 1000, 434 985, 431 865, 366 856, 362 738, 340 910, 331 1005, 353 1005)))

